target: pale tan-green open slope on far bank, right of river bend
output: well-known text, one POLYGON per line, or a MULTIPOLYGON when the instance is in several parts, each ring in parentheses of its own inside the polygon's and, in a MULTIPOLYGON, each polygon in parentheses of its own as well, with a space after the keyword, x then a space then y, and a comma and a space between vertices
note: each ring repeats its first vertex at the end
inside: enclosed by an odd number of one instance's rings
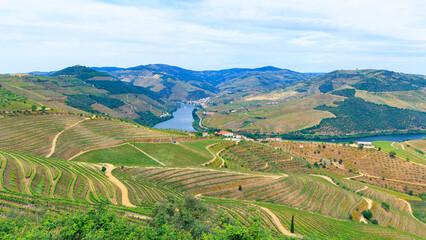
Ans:
POLYGON ((279 104, 265 101, 236 102, 208 108, 208 111, 217 113, 205 116, 203 124, 221 129, 285 133, 311 127, 324 118, 334 117, 329 112, 314 108, 343 99, 341 96, 318 94, 279 104))

